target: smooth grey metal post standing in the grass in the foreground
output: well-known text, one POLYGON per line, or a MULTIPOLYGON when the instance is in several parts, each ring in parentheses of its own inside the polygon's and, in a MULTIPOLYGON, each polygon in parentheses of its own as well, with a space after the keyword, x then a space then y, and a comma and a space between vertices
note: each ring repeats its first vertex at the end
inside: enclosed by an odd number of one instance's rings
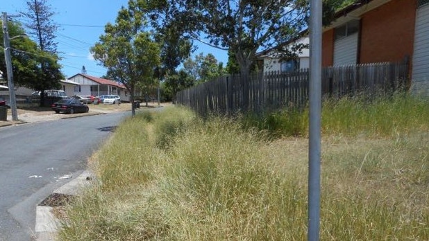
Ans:
POLYGON ((322 1, 310 1, 310 126, 308 148, 308 240, 319 240, 321 154, 322 1))

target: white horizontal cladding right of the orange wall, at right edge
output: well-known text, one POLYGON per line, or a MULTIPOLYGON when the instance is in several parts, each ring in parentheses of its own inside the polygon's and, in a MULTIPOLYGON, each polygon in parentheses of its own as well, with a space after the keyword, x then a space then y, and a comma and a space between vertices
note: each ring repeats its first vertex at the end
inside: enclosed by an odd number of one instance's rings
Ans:
POLYGON ((414 56, 412 60, 412 90, 429 93, 429 4, 417 9, 414 56))

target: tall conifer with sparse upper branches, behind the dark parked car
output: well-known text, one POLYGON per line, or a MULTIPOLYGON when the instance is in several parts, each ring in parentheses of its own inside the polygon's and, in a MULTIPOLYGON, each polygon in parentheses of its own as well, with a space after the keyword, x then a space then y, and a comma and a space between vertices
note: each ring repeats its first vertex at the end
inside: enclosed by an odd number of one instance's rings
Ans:
POLYGON ((40 105, 44 105, 44 90, 58 88, 60 80, 65 78, 60 71, 60 57, 57 42, 54 41, 58 24, 52 20, 55 12, 51 10, 47 0, 28 0, 26 3, 27 11, 20 12, 26 18, 24 26, 42 51, 37 57, 40 71, 33 81, 28 83, 28 87, 40 91, 40 105))

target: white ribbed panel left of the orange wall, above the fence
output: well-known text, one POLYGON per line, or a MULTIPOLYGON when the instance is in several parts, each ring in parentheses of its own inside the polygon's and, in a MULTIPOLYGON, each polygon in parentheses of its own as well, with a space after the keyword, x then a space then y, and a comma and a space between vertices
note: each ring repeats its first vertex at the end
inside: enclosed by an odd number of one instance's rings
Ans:
POLYGON ((357 33, 353 33, 353 35, 335 40, 334 65, 356 64, 357 37, 357 33))

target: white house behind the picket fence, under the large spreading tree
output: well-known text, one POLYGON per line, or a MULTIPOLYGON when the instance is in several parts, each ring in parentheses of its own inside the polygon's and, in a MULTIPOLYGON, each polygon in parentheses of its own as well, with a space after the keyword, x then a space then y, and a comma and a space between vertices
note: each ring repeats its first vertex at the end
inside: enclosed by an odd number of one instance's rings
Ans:
MULTIPOLYGON (((289 46, 294 44, 310 44, 310 38, 308 36, 301 37, 292 42, 289 46)), ((266 51, 262 51, 256 54, 256 60, 258 66, 262 69, 264 73, 269 73, 271 71, 275 72, 290 72, 296 71, 298 69, 307 69, 310 66, 310 51, 308 48, 303 48, 300 53, 296 53, 296 57, 292 60, 281 60, 279 54, 270 48, 266 51)))

